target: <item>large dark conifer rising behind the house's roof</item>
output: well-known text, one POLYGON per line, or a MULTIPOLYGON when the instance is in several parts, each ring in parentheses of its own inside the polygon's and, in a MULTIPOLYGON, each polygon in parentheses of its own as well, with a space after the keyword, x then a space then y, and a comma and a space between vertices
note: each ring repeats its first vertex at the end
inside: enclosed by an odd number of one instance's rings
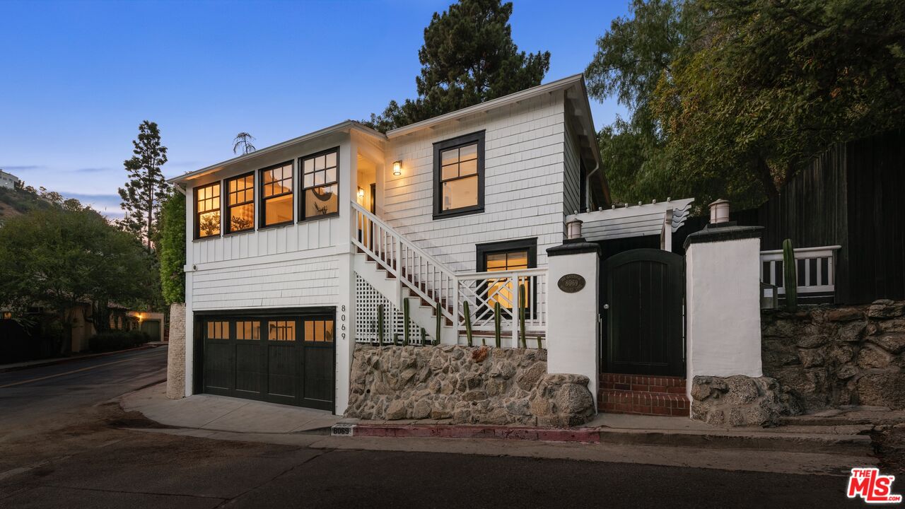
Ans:
POLYGON ((386 132, 539 85, 550 68, 550 53, 519 52, 511 15, 512 4, 500 0, 462 0, 434 13, 418 51, 418 97, 390 101, 365 123, 386 132))

